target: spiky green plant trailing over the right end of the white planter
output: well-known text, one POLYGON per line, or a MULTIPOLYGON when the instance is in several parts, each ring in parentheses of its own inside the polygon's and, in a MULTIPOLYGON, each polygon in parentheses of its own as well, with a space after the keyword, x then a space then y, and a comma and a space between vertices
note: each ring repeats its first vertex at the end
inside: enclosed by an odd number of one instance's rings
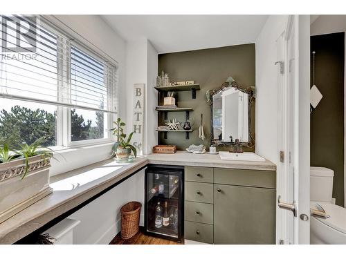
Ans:
POLYGON ((24 175, 21 179, 24 179, 26 177, 26 174, 28 173, 29 169, 29 157, 33 157, 35 155, 41 156, 43 159, 51 158, 53 157, 53 150, 51 148, 42 147, 42 143, 45 142, 45 137, 39 137, 39 139, 35 140, 33 144, 26 144, 26 142, 20 144, 20 148, 15 151, 15 153, 18 155, 18 158, 24 158, 25 159, 25 171, 24 175))

